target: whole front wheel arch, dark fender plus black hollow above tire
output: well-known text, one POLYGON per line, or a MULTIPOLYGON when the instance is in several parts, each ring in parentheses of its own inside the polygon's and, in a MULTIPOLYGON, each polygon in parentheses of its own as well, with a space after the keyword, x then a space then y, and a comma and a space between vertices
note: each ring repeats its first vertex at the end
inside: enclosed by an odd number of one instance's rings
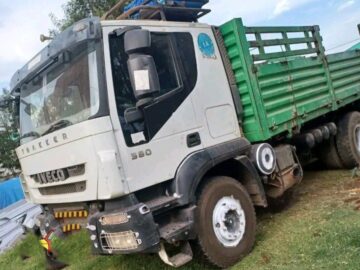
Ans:
POLYGON ((251 144, 238 139, 190 155, 179 167, 172 191, 180 196, 179 203, 196 201, 201 188, 212 176, 228 176, 244 185, 254 205, 267 207, 261 178, 248 158, 251 144))

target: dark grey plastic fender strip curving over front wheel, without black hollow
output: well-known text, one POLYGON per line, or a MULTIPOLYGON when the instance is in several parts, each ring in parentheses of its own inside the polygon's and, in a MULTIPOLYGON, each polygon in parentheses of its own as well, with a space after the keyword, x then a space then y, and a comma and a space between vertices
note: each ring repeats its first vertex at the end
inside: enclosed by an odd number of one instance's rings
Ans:
MULTIPOLYGON (((196 189, 210 169, 224 161, 240 156, 247 156, 250 149, 250 142, 245 138, 240 138, 203 149, 188 156, 180 165, 171 186, 172 191, 179 196, 179 204, 186 205, 195 202, 196 189)), ((256 179, 255 184, 260 185, 263 191, 260 177, 251 162, 249 160, 247 162, 241 158, 239 162, 246 168, 250 168, 249 172, 253 174, 253 178, 256 179)))

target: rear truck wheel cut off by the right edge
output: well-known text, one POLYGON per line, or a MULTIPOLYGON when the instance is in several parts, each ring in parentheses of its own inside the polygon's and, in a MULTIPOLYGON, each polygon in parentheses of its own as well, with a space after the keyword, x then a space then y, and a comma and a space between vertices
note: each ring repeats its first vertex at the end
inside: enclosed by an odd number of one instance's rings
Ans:
POLYGON ((345 115, 338 124, 336 145, 339 156, 347 169, 360 164, 360 113, 345 115))

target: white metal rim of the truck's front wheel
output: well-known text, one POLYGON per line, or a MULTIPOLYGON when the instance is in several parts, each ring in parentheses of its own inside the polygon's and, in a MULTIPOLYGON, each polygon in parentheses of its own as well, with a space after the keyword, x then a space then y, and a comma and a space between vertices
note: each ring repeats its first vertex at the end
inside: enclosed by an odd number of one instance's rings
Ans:
POLYGON ((213 212, 213 228, 216 238, 225 247, 236 247, 245 233, 245 212, 239 200, 221 198, 213 212))

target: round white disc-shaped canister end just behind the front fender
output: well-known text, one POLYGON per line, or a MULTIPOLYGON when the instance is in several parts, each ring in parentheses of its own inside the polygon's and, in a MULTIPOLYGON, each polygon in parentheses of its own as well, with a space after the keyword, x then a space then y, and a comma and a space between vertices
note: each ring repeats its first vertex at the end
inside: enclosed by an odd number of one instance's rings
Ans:
POLYGON ((276 167, 275 151, 270 144, 263 143, 254 145, 252 149, 253 159, 259 171, 264 175, 270 175, 276 167))

